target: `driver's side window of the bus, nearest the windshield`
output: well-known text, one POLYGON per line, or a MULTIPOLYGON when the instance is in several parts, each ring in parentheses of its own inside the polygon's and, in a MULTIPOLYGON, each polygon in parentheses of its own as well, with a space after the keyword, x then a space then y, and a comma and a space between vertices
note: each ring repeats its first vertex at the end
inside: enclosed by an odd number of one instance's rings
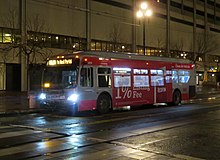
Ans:
POLYGON ((82 87, 93 87, 93 68, 81 69, 80 85, 82 87))

